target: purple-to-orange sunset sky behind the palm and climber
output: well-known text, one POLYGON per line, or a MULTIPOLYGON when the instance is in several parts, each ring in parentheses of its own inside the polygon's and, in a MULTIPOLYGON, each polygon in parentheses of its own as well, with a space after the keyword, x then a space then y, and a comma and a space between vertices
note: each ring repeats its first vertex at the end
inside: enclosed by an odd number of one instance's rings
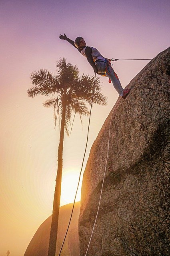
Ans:
MULTIPOLYGON (((30 74, 40 68, 56 72, 62 57, 77 64, 80 75, 94 74, 86 58, 59 39, 63 33, 72 40, 82 36, 107 58, 154 58, 169 47, 169 14, 169 0, 0 0, 0 256, 7 250, 23 256, 52 214, 60 130, 54 129, 53 109, 42 106, 47 97, 28 98, 30 74)), ((147 63, 113 63, 123 88, 147 63)), ((102 77, 101 84, 108 105, 92 109, 83 170, 118 98, 108 78, 102 77)), ((82 129, 76 117, 70 138, 65 134, 61 205, 73 201, 87 127, 88 118, 82 129)))

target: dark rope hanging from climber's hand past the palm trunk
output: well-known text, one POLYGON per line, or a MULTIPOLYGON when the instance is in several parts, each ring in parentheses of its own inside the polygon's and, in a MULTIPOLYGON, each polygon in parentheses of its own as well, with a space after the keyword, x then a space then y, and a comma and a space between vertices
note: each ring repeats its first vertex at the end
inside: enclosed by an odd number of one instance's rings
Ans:
MULTIPOLYGON (((82 161, 82 167, 81 167, 81 170, 80 170, 80 175, 79 175, 79 180, 78 180, 78 186, 79 186, 79 183, 80 183, 80 177, 81 177, 81 173, 82 173, 82 168, 83 168, 83 164, 84 164, 84 158, 85 158, 86 149, 87 149, 87 143, 88 143, 88 134, 89 134, 89 128, 90 128, 90 118, 91 118, 91 112, 92 112, 92 105, 93 105, 93 98, 94 98, 95 83, 96 83, 96 73, 95 73, 95 76, 94 76, 92 103, 91 103, 91 107, 90 107, 90 116, 89 116, 89 121, 88 121, 88 131, 87 131, 86 147, 85 147, 85 150, 84 150, 84 156, 83 156, 83 161, 82 161)), ((67 227, 67 230, 66 230, 66 234, 65 234, 65 236, 64 236, 64 240, 63 240, 63 242, 62 242, 62 246, 61 246, 61 249, 60 249, 60 252, 59 252, 58 256, 60 256, 61 251, 62 251, 62 248, 63 248, 63 245, 64 245, 64 242, 65 242, 65 240, 66 240, 66 236, 67 236, 67 233, 68 233, 68 228, 69 228, 69 226, 70 226, 70 222, 71 222, 71 219, 72 219, 72 214, 73 214, 74 205, 75 205, 75 201, 76 201, 78 186, 77 186, 77 190, 76 190, 76 195, 75 195, 75 197, 74 197, 74 203, 73 203, 73 207, 72 207, 72 213, 71 213, 71 216, 70 216, 70 220, 69 220, 69 223, 68 223, 68 227, 67 227)))

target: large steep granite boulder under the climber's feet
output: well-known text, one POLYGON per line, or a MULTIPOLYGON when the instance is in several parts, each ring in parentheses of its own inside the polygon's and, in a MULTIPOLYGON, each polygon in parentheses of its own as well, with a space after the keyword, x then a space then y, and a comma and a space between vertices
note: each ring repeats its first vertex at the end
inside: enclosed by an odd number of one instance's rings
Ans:
POLYGON ((96 138, 84 172, 80 255, 90 240, 108 150, 106 176, 88 256, 169 256, 170 48, 127 86, 96 138))

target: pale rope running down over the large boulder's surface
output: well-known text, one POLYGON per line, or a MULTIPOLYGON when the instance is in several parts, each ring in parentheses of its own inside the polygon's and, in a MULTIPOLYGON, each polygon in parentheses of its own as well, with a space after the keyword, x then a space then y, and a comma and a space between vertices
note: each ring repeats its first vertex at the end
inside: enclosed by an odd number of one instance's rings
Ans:
MULTIPOLYGON (((116 108, 118 102, 119 102, 119 100, 116 102, 116 105, 115 105, 114 108, 113 108, 112 116, 113 116, 114 109, 116 108)), ((110 118, 110 127, 111 127, 111 123, 112 123, 112 116, 111 116, 111 118, 110 118)), ((87 255, 88 248, 89 248, 90 242, 91 242, 91 240, 92 240, 92 235, 93 235, 93 232, 94 232, 94 227, 95 227, 95 225, 96 225, 96 220, 97 220, 97 217, 98 217, 100 202, 101 202, 101 198, 102 198, 102 190, 103 190, 104 178, 105 178, 106 167, 107 167, 107 162, 108 162, 108 153, 109 153, 109 144, 110 144, 110 127, 109 127, 109 136, 108 136, 108 152, 107 152, 107 158, 106 158, 106 165, 105 165, 105 170, 104 170, 102 188, 101 188, 101 192, 100 192, 100 199, 99 199, 99 204, 98 204, 98 210, 97 210, 97 213, 96 213, 96 219, 95 219, 95 221, 94 221, 94 225, 93 225, 93 229, 92 229, 92 234, 91 234, 91 236, 90 236, 90 240, 89 240, 89 243, 88 243, 88 247, 87 247, 85 256, 87 255)))

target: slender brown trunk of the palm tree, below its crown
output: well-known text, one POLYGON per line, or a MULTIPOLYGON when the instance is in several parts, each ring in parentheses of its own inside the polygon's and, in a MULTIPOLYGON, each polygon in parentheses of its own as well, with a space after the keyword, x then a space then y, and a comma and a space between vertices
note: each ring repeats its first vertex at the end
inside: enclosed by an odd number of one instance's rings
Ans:
POLYGON ((61 195, 61 180, 62 180, 62 156, 63 156, 63 142, 64 142, 64 123, 66 118, 66 105, 62 105, 62 120, 60 128, 60 142, 58 146, 58 168, 56 177, 56 188, 54 192, 54 202, 52 210, 52 222, 50 230, 50 241, 48 247, 48 256, 55 256, 57 231, 58 231, 58 215, 60 209, 60 195, 61 195))

